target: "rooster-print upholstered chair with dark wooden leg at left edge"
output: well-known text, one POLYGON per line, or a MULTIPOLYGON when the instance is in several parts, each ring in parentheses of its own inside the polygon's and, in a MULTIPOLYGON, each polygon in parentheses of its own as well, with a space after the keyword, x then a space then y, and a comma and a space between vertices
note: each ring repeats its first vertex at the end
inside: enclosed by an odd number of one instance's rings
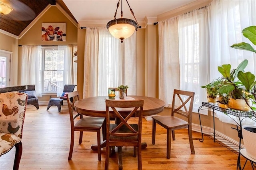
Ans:
POLYGON ((21 139, 27 99, 26 93, 0 93, 0 156, 15 146, 14 170, 19 169, 22 155, 21 139))

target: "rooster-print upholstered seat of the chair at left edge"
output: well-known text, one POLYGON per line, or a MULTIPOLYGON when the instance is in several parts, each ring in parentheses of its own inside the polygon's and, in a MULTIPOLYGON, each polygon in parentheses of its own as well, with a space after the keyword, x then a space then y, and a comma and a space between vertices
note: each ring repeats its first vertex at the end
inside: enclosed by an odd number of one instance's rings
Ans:
POLYGON ((0 155, 8 152, 21 138, 10 133, 0 133, 0 155))

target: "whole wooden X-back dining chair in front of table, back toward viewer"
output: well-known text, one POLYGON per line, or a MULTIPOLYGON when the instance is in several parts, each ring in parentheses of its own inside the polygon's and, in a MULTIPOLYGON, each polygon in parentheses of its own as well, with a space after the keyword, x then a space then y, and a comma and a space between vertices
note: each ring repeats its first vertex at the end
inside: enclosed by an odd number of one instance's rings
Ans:
MULTIPOLYGON (((138 169, 142 170, 141 133, 144 100, 110 100, 106 99, 106 161, 105 170, 108 170, 110 148, 118 146, 118 154, 122 154, 122 146, 137 148, 138 169), (119 108, 131 108, 120 113, 119 108), (139 110, 138 110, 139 109, 139 110), (110 124, 110 117, 117 117, 119 121, 110 124), (129 124, 131 117, 138 117, 137 124, 129 124)), ((135 155, 136 156, 136 155, 135 155)), ((122 158, 122 156, 120 156, 122 158)), ((120 160, 119 160, 120 162, 120 160)), ((119 169, 122 169, 119 166, 119 169)))

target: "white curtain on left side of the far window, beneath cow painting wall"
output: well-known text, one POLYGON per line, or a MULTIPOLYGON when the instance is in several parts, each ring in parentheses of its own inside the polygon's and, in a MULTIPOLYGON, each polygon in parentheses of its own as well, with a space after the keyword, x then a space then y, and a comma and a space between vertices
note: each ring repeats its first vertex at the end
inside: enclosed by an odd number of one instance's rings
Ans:
POLYGON ((40 45, 22 45, 20 84, 35 85, 37 96, 42 95, 40 49, 40 45))

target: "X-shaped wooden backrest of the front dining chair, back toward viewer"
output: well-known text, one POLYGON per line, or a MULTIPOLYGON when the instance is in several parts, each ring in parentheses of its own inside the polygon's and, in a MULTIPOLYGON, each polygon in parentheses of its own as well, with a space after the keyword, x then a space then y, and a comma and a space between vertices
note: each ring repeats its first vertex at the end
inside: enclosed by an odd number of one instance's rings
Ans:
POLYGON ((143 116, 143 104, 144 100, 110 100, 106 99, 106 129, 107 129, 107 140, 109 136, 138 136, 141 140, 141 131, 142 131, 142 116, 143 116), (110 109, 111 108, 111 109, 110 109), (129 108, 125 111, 125 114, 122 114, 118 111, 120 108, 129 108), (138 110, 139 109, 139 110, 138 110), (111 113, 110 113, 111 112, 111 113), (113 115, 110 115, 113 114, 113 115), (116 127, 112 130, 110 129, 110 116, 117 117, 120 119, 120 122, 116 124, 116 127), (138 118, 138 129, 134 129, 131 125, 128 124, 128 121, 131 117, 138 118), (124 132, 124 129, 126 131, 124 132))

